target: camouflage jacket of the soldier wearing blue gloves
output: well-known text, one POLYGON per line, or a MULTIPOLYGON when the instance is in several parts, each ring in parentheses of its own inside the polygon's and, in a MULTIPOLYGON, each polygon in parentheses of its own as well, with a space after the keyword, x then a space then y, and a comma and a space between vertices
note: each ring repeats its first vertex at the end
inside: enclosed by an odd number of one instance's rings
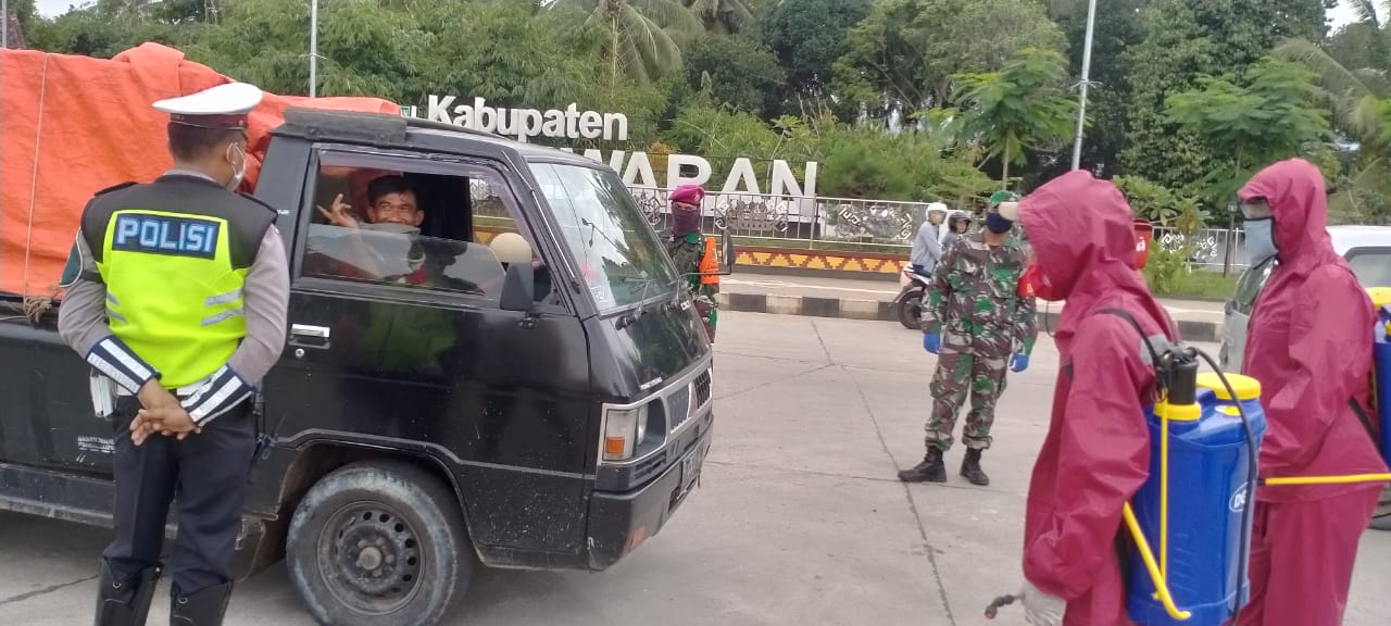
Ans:
POLYGON ((979 232, 957 239, 942 255, 928 289, 922 331, 956 335, 943 337, 943 345, 985 342, 1002 352, 1031 353, 1038 338, 1035 299, 1018 291, 1027 264, 1028 255, 1013 236, 995 248, 979 232))

